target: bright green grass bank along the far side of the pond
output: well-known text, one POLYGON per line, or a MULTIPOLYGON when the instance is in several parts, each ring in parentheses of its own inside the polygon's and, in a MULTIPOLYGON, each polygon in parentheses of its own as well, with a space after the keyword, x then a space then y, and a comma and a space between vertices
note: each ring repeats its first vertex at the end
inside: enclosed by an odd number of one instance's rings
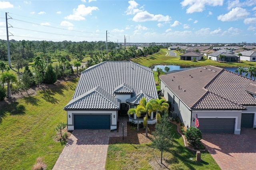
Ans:
MULTIPOLYGON (((160 49, 158 53, 153 55, 149 55, 146 57, 136 57, 133 58, 132 61, 139 63, 141 65, 145 65, 147 67, 151 67, 153 65, 191 65, 191 66, 206 66, 213 65, 218 67, 248 67, 248 66, 256 66, 256 62, 250 61, 242 61, 242 63, 219 63, 217 61, 212 61, 210 59, 202 59, 197 62, 180 60, 180 57, 172 57, 166 55, 167 49, 160 49)), ((177 51, 174 51, 177 52, 177 51)), ((178 54, 179 55, 179 54, 178 54)))

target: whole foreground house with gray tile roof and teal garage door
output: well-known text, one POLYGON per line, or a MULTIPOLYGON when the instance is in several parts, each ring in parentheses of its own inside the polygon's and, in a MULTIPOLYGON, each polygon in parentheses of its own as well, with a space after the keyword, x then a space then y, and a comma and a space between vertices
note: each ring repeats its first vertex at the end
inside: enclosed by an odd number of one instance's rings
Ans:
MULTIPOLYGON (((64 107, 68 129, 116 129, 118 116, 136 108, 142 97, 158 99, 150 68, 132 61, 105 61, 89 67, 81 73, 72 100, 64 107)), ((148 123, 156 123, 155 117, 152 113, 148 123)), ((136 115, 129 117, 133 120, 136 115)))

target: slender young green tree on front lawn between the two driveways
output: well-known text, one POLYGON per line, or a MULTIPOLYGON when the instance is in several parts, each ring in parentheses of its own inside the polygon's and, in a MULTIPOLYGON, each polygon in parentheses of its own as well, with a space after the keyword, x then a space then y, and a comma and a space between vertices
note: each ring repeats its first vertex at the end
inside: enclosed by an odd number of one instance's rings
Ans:
POLYGON ((167 150, 172 145, 172 126, 168 119, 168 114, 164 114, 161 118, 161 123, 156 124, 156 130, 152 132, 154 139, 153 145, 161 152, 161 164, 163 164, 163 151, 167 150))

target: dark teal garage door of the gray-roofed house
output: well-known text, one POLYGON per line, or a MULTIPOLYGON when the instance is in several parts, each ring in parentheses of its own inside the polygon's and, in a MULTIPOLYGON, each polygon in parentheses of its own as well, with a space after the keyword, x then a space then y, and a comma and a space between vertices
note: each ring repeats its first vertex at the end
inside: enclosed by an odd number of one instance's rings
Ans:
POLYGON ((110 129, 110 115, 74 115, 74 129, 110 129))

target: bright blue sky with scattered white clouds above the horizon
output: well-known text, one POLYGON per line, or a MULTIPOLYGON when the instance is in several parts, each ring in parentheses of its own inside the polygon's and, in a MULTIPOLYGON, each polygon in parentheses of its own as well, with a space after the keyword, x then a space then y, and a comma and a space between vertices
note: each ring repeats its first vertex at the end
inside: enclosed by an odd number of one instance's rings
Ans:
POLYGON ((5 12, 10 40, 256 42, 256 0, 0 0, 2 40, 5 12))

